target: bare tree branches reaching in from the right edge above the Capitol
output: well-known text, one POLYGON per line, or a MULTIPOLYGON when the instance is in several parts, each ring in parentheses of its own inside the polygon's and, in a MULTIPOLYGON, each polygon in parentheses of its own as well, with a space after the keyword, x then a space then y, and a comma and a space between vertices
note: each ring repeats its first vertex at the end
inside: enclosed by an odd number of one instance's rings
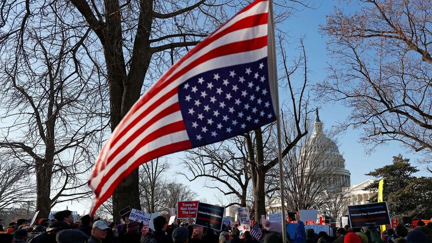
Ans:
POLYGON ((362 128, 371 149, 399 141, 430 162, 432 3, 368 0, 357 9, 335 9, 322 26, 335 62, 317 93, 351 108, 341 128, 362 128))

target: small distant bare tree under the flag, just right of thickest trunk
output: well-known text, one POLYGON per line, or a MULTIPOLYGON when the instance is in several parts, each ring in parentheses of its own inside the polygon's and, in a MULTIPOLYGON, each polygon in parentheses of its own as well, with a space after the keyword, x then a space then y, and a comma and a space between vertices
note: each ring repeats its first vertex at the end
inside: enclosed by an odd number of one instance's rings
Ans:
POLYGON ((153 159, 142 164, 140 169, 140 198, 141 207, 146 212, 159 212, 162 210, 163 190, 166 181, 162 175, 169 168, 166 158, 153 159))

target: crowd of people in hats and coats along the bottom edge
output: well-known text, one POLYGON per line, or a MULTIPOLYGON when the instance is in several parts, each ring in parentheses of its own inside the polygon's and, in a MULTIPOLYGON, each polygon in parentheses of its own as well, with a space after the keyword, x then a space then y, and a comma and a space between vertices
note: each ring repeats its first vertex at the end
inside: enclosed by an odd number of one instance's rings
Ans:
MULTIPOLYGON (((141 232, 142 223, 126 221, 122 224, 109 223, 100 218, 92 220, 89 215, 74 222, 72 211, 63 210, 54 215, 55 220, 41 218, 36 225, 28 220, 19 219, 3 229, 0 225, 1 243, 282 243, 282 224, 263 220, 259 233, 251 234, 237 228, 223 225, 221 231, 207 227, 196 227, 193 219, 178 221, 168 225, 166 218, 153 219, 154 230, 141 232), (253 236, 254 235, 254 236, 253 236)), ((295 235, 287 232, 287 242, 291 243, 432 243, 432 223, 418 225, 408 230, 404 225, 387 229, 383 239, 376 227, 351 228, 349 225, 337 228, 334 234, 324 231, 315 232, 305 225, 296 215, 295 235)), ((258 225, 258 224, 257 224, 258 225)), ((255 228, 253 230, 256 230, 255 228)))

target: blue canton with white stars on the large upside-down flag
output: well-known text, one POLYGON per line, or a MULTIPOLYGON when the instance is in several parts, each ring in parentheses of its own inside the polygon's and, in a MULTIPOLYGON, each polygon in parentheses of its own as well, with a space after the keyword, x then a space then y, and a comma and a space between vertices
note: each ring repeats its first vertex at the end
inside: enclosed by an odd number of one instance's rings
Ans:
POLYGON ((187 134, 193 147, 222 141, 276 120, 267 58, 214 69, 178 87, 187 134))

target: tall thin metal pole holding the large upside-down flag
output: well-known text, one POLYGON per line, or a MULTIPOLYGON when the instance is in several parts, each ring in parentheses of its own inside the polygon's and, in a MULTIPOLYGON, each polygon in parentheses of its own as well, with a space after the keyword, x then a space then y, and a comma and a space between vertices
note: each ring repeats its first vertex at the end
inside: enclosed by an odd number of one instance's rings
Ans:
POLYGON ((274 26, 274 19, 273 19, 273 0, 269 0, 269 44, 271 46, 269 52, 269 63, 272 65, 269 65, 269 68, 272 69, 271 72, 269 72, 269 75, 272 75, 273 79, 273 93, 274 96, 274 102, 276 105, 276 124, 278 127, 278 160, 279 160, 279 176, 280 176, 280 189, 281 189, 281 208, 282 208, 282 242, 287 242, 287 231, 285 226, 285 196, 284 196, 284 169, 282 166, 282 137, 281 137, 281 115, 280 115, 280 108, 279 108, 279 91, 278 91, 278 72, 277 72, 277 63, 276 63, 276 47, 275 47, 275 26, 274 26))

